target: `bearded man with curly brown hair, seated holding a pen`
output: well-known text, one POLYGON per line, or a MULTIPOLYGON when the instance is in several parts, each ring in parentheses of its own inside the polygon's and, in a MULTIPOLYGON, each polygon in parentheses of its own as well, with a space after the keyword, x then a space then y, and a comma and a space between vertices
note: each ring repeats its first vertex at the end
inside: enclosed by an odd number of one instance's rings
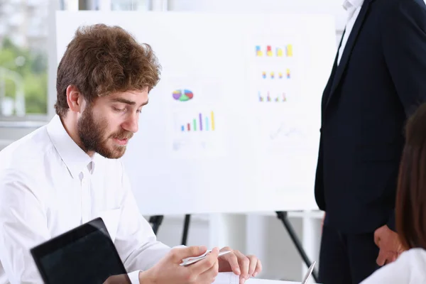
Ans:
POLYGON ((217 248, 180 266, 206 248, 170 249, 138 211, 119 158, 159 74, 151 47, 124 29, 77 30, 58 66, 57 115, 0 152, 0 284, 40 283, 30 249, 97 217, 132 283, 207 284, 220 271, 234 271, 244 283, 261 271, 255 256, 218 258, 217 248))

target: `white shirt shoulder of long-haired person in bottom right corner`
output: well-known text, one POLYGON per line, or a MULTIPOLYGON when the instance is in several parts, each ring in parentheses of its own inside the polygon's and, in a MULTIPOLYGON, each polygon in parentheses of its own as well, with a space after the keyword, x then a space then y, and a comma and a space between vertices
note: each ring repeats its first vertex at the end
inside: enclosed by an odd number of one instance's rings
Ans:
POLYGON ((426 283, 426 251, 410 249, 396 261, 378 269, 361 284, 422 284, 426 283))

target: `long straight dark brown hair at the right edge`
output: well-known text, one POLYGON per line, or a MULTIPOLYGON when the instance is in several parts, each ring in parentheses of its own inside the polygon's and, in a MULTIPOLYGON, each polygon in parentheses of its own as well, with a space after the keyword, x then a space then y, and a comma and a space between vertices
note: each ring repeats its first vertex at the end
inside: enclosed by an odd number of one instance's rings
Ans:
POLYGON ((426 104, 408 119, 396 197, 396 229, 405 249, 426 249, 426 104))

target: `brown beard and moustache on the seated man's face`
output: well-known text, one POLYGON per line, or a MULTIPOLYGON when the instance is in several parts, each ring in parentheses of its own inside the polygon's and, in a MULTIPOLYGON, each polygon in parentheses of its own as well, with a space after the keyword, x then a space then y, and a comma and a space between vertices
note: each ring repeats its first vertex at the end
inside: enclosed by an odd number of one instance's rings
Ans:
POLYGON ((126 152, 126 146, 108 146, 108 141, 110 138, 130 139, 133 133, 121 129, 121 131, 107 136, 107 126, 107 121, 104 119, 95 121, 92 106, 87 106, 77 122, 77 132, 82 142, 81 147, 85 152, 93 151, 105 158, 121 158, 126 152))

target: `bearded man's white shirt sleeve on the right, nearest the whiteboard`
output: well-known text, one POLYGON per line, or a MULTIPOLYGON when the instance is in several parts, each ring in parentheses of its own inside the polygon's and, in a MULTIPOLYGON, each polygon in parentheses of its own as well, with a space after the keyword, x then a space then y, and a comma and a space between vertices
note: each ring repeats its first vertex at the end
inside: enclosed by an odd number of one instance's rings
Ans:
POLYGON ((157 241, 151 225, 139 212, 124 168, 122 186, 124 197, 114 244, 128 272, 146 271, 158 263, 170 247, 157 241))

